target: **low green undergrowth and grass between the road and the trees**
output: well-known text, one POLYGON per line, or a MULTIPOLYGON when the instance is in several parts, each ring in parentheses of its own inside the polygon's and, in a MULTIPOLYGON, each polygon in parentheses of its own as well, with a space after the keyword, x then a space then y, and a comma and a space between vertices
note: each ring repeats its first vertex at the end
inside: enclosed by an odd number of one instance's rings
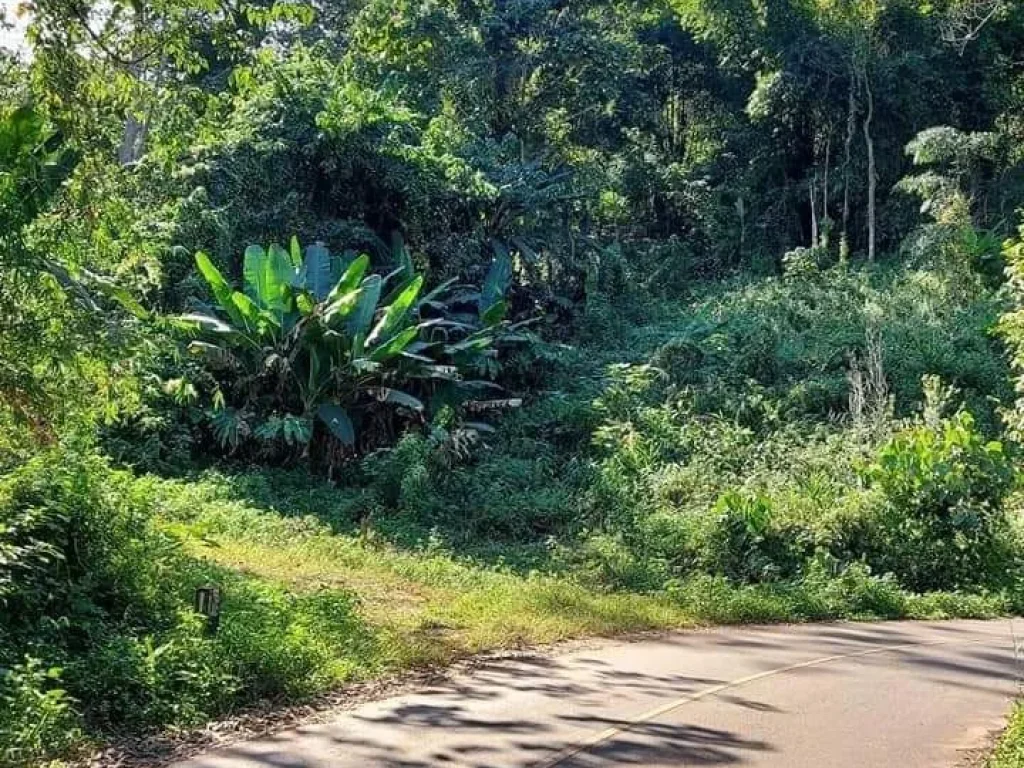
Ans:
POLYGON ((471 451, 426 425, 337 484, 53 449, 0 478, 2 762, 489 648, 1019 611, 998 309, 931 271, 697 286, 524 350, 543 388, 471 451))

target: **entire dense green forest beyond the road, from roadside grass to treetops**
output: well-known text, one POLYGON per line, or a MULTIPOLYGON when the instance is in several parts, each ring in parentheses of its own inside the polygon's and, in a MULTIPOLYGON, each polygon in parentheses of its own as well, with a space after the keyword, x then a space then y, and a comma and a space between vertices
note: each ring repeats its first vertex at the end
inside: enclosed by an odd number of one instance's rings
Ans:
POLYGON ((1024 4, 3 7, 0 764, 1024 609, 1024 4))

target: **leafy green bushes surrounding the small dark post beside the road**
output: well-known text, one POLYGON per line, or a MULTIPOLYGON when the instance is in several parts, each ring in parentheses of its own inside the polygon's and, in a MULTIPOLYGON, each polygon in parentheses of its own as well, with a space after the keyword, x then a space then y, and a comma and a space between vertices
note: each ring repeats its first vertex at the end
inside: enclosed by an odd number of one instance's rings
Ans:
POLYGON ((188 725, 350 677, 373 656, 354 598, 294 595, 189 556, 145 481, 55 450, 0 477, 0 755, 81 732, 188 725), (223 593, 216 635, 191 609, 223 593))

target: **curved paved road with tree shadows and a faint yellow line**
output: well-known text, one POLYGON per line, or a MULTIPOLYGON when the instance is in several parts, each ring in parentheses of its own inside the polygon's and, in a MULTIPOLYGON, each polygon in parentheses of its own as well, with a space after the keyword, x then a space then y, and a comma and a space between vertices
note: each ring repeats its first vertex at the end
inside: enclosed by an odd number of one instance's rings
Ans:
POLYGON ((1022 621, 680 632, 485 663, 176 768, 941 768, 1022 674, 1022 621))

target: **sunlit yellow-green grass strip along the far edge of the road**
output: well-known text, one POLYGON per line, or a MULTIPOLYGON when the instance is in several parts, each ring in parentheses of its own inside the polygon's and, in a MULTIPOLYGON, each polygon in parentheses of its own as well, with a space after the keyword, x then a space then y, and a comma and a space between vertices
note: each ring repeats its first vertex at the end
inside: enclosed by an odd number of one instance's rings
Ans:
MULTIPOLYGON (((651 593, 610 590, 580 573, 521 572, 431 546, 406 551, 369 532, 336 532, 313 509, 282 515, 231 498, 222 476, 140 481, 191 555, 293 594, 351 594, 373 643, 357 676, 445 664, 495 648, 710 623, 989 616, 998 596, 910 595, 850 569, 800 584, 736 587, 697 577, 651 593)), ((307 497, 308 498, 308 497, 307 497)), ((225 605, 230 622, 230 602, 225 605)))

